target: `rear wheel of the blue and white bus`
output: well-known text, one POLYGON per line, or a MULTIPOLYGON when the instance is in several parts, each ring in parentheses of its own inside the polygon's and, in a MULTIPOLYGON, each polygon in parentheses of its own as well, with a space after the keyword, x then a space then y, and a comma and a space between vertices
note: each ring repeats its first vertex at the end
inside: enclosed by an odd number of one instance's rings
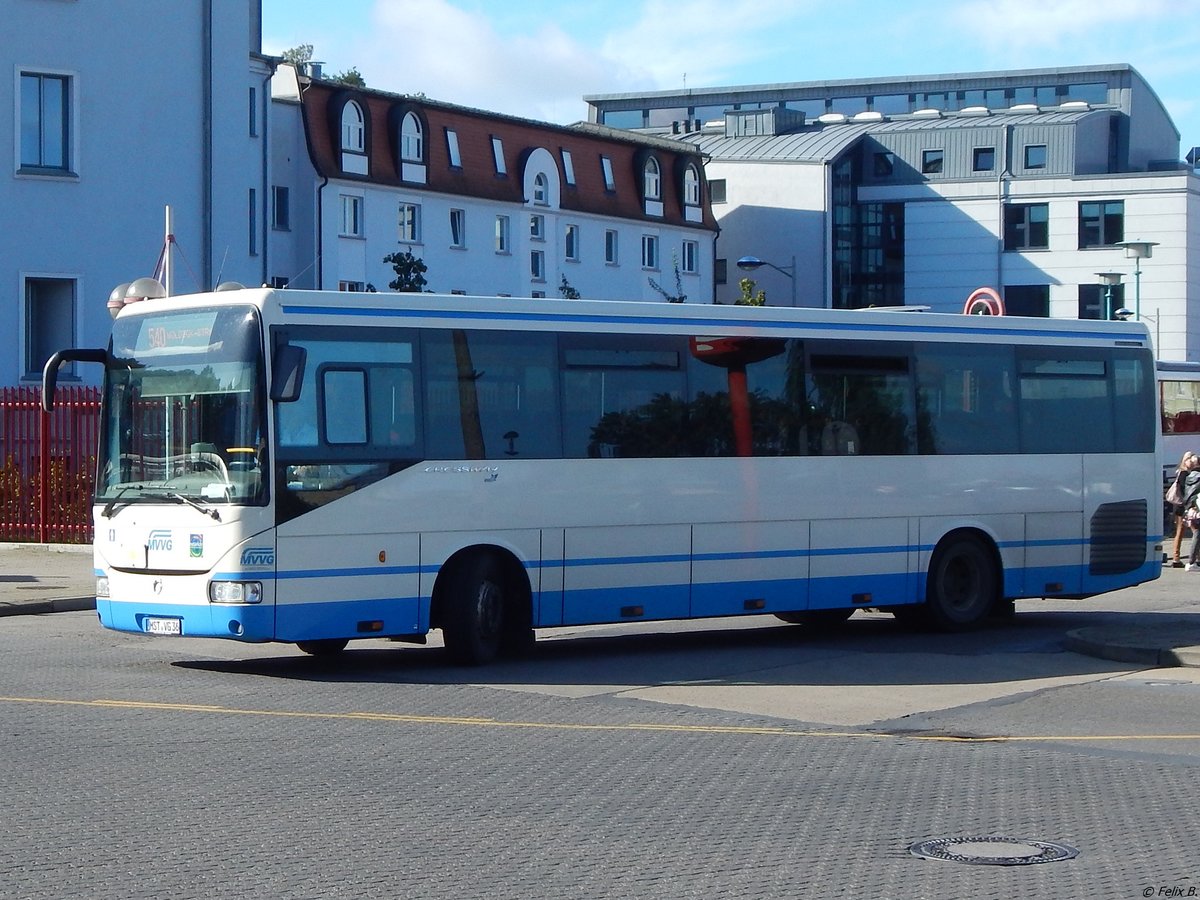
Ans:
POLYGON ((970 534, 944 538, 929 560, 926 623, 938 631, 976 628, 1000 601, 1000 565, 983 541, 970 534))

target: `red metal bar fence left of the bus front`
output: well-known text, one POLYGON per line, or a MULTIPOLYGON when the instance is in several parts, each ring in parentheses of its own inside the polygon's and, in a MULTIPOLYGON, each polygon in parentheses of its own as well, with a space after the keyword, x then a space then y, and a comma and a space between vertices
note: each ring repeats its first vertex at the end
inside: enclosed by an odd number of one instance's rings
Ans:
POLYGON ((98 388, 0 388, 0 540, 91 542, 98 436, 98 388))

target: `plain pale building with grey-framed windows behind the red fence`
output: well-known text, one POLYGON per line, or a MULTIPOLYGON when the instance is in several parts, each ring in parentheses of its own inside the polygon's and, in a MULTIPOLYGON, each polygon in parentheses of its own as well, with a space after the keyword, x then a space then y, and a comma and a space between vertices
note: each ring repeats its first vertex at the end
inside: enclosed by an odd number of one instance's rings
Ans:
POLYGON ((154 272, 168 206, 178 292, 264 280, 260 31, 257 0, 7 0, 0 384, 107 341, 108 295, 154 272))

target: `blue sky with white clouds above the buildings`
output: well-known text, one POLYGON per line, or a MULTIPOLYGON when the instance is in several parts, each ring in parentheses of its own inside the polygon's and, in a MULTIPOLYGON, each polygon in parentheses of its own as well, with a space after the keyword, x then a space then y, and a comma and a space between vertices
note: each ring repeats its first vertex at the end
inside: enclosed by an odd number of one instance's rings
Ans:
POLYGON ((1200 146, 1183 0, 263 0, 263 49, 326 76, 569 125, 592 94, 1127 62, 1200 146))

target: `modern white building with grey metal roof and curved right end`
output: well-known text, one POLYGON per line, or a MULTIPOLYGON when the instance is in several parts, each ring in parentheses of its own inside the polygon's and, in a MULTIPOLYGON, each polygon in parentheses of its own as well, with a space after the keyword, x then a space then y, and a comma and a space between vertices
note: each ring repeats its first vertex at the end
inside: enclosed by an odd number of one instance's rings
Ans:
POLYGON ((709 157, 718 300, 745 275, 769 304, 847 308, 989 287, 1009 314, 1128 308, 1160 358, 1200 360, 1200 178, 1127 65, 587 101, 709 157))

